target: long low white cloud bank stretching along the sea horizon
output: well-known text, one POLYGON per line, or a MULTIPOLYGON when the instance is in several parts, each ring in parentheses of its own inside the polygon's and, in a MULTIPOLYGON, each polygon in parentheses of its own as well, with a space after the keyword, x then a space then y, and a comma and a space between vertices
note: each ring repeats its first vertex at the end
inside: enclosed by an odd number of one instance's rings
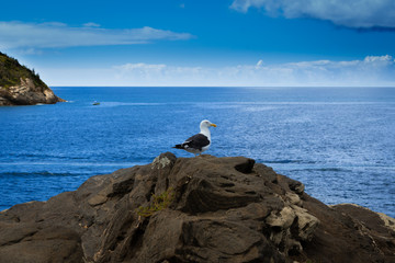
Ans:
POLYGON ((346 61, 280 65, 261 61, 222 68, 125 64, 108 69, 40 69, 40 72, 50 85, 395 87, 395 61, 390 55, 346 61))

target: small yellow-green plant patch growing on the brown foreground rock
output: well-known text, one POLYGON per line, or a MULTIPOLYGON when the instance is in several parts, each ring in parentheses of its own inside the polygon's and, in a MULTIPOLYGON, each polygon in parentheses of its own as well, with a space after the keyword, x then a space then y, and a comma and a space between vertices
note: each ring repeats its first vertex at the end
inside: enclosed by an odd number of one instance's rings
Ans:
POLYGON ((139 206, 137 215, 142 217, 150 217, 156 211, 167 208, 174 198, 174 193, 172 187, 169 187, 167 191, 160 195, 153 194, 151 203, 148 206, 139 206))

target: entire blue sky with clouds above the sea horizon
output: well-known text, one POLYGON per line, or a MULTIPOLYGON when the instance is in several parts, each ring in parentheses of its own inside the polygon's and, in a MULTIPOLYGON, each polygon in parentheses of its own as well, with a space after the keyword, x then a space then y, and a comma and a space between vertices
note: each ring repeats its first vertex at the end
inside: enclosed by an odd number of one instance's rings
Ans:
POLYGON ((0 52, 50 87, 395 87, 394 0, 1 3, 0 52))

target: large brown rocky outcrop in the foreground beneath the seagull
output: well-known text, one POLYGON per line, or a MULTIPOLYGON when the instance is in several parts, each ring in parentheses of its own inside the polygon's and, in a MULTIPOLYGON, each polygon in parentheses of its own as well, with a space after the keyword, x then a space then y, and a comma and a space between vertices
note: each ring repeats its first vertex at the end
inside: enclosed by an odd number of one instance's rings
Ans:
POLYGON ((390 263, 393 224, 248 158, 167 152, 0 213, 0 262, 390 263))

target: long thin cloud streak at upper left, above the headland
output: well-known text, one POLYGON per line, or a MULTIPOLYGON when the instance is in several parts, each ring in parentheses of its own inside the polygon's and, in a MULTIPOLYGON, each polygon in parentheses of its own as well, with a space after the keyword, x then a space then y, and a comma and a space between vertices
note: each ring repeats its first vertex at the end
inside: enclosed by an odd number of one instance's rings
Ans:
POLYGON ((55 48, 72 46, 132 45, 153 41, 181 41, 193 37, 188 33, 153 27, 109 30, 92 22, 82 27, 63 23, 0 22, 0 49, 55 48))

